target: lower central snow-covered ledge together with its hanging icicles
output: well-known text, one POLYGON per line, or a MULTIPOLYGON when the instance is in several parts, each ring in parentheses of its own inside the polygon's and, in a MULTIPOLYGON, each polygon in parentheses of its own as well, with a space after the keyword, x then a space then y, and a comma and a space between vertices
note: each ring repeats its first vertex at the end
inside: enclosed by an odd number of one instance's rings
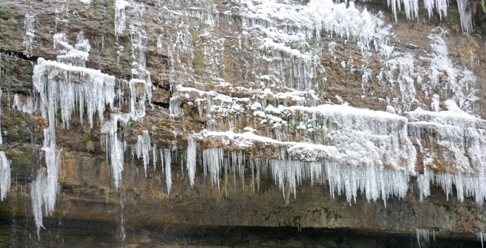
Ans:
MULTIPOLYGON (((334 196, 337 194, 346 195, 348 203, 356 200, 359 191, 366 195, 368 200, 376 201, 382 198, 384 201, 391 196, 404 198, 408 191, 408 181, 410 174, 414 171, 409 171, 407 167, 399 169, 385 169, 379 165, 361 164, 362 161, 358 157, 369 156, 359 154, 342 154, 336 147, 328 145, 316 145, 310 143, 297 142, 282 142, 271 138, 256 136, 251 133, 234 134, 232 132, 207 132, 204 134, 206 138, 216 138, 220 136, 223 138, 222 143, 231 143, 232 147, 240 147, 240 149, 247 149, 252 147, 254 143, 262 143, 271 145, 284 145, 288 147, 288 156, 282 159, 271 159, 267 161, 252 160, 254 165, 259 168, 257 170, 265 171, 266 167, 271 169, 273 180, 282 191, 285 190, 285 185, 292 189, 295 194, 297 185, 300 185, 303 180, 310 180, 311 182, 324 183, 327 179, 330 185, 330 192, 334 196), (294 160, 297 156, 302 160, 294 160), (357 156, 357 157, 351 157, 357 156), (324 174, 325 173, 325 174, 324 174)), ((261 147, 262 145, 260 145, 261 147)), ((350 146, 352 147, 352 146, 350 146)), ((209 173, 211 182, 219 185, 219 174, 224 163, 224 149, 212 148, 203 151, 204 158, 204 173, 209 173)), ((235 154, 233 156, 233 167, 239 167, 240 158, 235 154)), ((413 159, 412 159, 413 161, 413 159)), ((410 168, 414 169, 414 167, 410 168)), ((240 174, 242 171, 240 170, 240 174)))

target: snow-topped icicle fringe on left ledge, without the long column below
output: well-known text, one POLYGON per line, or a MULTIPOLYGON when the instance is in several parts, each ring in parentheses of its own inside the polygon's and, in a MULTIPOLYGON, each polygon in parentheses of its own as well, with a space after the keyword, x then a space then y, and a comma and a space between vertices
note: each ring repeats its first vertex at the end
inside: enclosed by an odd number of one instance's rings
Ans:
POLYGON ((99 120, 103 121, 105 106, 108 104, 113 107, 115 78, 99 70, 39 58, 34 67, 32 81, 40 93, 43 105, 47 107, 47 110, 41 109, 42 114, 45 118, 52 118, 49 121, 52 125, 55 125, 54 117, 58 106, 64 127, 69 127, 77 104, 81 122, 86 108, 89 125, 92 127, 95 112, 98 112, 99 120))

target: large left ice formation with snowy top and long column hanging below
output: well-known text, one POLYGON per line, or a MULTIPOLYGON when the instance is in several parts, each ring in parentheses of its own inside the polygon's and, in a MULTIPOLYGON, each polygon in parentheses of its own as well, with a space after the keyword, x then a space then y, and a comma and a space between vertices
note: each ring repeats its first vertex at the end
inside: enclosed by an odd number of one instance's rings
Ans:
POLYGON ((86 110, 89 125, 93 127, 94 114, 98 112, 99 121, 103 121, 105 106, 113 107, 114 101, 114 76, 77 66, 84 65, 83 61, 87 56, 85 50, 89 50, 89 42, 83 39, 82 34, 78 36, 78 43, 74 47, 65 43, 62 34, 54 35, 54 44, 63 45, 66 48, 65 55, 59 56, 59 61, 39 58, 32 76, 34 88, 40 96, 41 114, 49 125, 44 130, 42 147, 46 169, 39 169, 36 180, 31 184, 38 231, 42 227, 42 206, 44 214, 48 216, 54 211, 56 203, 58 169, 61 163, 60 154, 56 151, 55 128, 58 110, 61 112, 61 121, 65 128, 69 127, 76 106, 79 108, 81 122, 86 110))

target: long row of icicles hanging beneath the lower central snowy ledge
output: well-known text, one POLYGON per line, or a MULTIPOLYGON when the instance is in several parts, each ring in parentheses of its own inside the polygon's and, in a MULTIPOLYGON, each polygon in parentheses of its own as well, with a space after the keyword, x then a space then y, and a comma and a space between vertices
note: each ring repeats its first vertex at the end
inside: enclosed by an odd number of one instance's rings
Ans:
MULTIPOLYGON (((359 167, 319 160, 316 162, 296 161, 293 159, 245 158, 241 152, 225 152, 222 148, 211 148, 203 151, 203 171, 209 173, 211 182, 220 187, 221 172, 224 172, 226 187, 227 174, 233 172, 244 178, 244 166, 251 168, 252 185, 260 185, 260 176, 271 172, 275 184, 279 185, 285 196, 286 190, 296 194, 297 185, 304 180, 312 184, 330 186, 332 197, 337 192, 344 194, 348 203, 356 202, 358 192, 364 192, 368 200, 376 202, 382 198, 404 198, 408 191, 410 175, 394 169, 379 167, 359 167)), ((244 187, 243 187, 244 189, 244 187)))

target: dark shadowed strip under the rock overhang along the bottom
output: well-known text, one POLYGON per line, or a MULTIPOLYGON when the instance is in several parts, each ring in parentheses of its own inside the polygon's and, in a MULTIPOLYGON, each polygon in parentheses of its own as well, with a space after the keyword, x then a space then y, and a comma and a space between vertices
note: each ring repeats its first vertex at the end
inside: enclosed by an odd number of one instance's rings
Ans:
MULTIPOLYGON (((32 217, 0 213, 0 247, 419 247, 416 236, 355 229, 124 225, 45 218, 40 238, 32 217), (123 240, 122 236, 125 235, 123 240)), ((421 247, 481 247, 467 238, 437 238, 421 247)))

